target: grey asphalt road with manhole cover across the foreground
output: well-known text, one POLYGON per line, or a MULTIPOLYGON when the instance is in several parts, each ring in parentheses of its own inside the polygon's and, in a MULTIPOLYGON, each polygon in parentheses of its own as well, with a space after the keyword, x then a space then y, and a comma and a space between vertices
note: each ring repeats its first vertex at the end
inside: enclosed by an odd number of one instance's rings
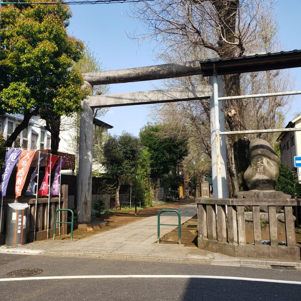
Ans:
POLYGON ((183 262, 0 253, 0 300, 2 301, 300 300, 300 284, 227 279, 229 277, 301 281, 301 271, 183 262), (7 276, 8 272, 22 268, 43 270, 41 274, 31 278, 54 277, 54 279, 25 280, 7 276), (82 275, 106 276, 82 278, 82 275), (108 275, 144 276, 108 278, 108 275), (160 275, 182 276, 160 278, 160 275), (187 275, 220 278, 191 278, 187 275), (81 276, 81 278, 60 279, 62 276, 81 276), (11 281, 7 278, 17 280, 11 281), (4 279, 8 281, 3 281, 4 279))

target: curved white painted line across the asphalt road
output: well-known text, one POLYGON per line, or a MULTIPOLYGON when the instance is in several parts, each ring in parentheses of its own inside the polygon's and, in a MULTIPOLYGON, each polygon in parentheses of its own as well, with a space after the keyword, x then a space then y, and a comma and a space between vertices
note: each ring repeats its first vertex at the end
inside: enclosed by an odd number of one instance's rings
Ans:
POLYGON ((284 284, 301 284, 301 281, 286 281, 261 278, 243 278, 228 276, 209 276, 209 275, 76 275, 76 276, 45 276, 45 277, 22 277, 22 278, 0 278, 3 281, 23 281, 23 280, 51 280, 51 279, 84 279, 84 278, 205 278, 205 279, 222 279, 222 280, 240 280, 240 281, 259 281, 274 282, 284 284))

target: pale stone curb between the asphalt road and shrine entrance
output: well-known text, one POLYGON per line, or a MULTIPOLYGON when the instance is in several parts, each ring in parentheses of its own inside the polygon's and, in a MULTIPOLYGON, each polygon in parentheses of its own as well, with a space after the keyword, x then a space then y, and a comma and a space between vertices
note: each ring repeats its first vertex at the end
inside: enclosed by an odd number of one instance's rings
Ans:
POLYGON ((72 251, 46 251, 46 250, 29 250, 29 249, 4 249, 0 247, 0 253, 26 253, 26 254, 52 254, 52 255, 71 255, 71 256, 92 256, 103 258, 118 259, 148 259, 148 260, 166 260, 173 262, 194 262, 207 265, 225 265, 225 266, 248 266, 248 267, 270 267, 284 266, 301 269, 301 261, 284 261, 275 259, 253 259, 253 258, 227 258, 227 259, 197 259, 197 258, 174 258, 160 256, 144 256, 133 254, 113 254, 102 252, 72 252, 72 251))

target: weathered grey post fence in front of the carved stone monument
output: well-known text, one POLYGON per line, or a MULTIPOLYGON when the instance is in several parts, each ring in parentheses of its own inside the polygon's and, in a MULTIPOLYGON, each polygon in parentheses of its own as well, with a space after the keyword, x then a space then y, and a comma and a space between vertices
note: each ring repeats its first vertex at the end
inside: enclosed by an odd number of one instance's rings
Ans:
POLYGON ((214 199, 198 198, 198 248, 234 257, 300 260, 295 246, 292 206, 299 199, 214 199), (260 208, 268 206, 270 245, 262 245, 260 208), (246 242, 245 206, 253 209, 254 244, 246 242), (284 208, 286 246, 278 245, 276 207, 284 208), (227 212, 227 214, 226 214, 227 212))

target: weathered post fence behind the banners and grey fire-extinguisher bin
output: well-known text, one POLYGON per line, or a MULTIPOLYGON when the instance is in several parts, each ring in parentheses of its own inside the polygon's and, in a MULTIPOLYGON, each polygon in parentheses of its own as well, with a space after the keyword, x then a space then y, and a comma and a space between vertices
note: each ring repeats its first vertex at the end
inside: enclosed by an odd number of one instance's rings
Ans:
MULTIPOLYGON (((6 219, 7 219, 7 204, 13 203, 14 199, 3 200, 2 225, 0 225, 0 244, 5 243, 6 219)), ((28 203, 27 215, 27 242, 32 242, 34 237, 34 216, 36 199, 24 198, 20 199, 19 203, 28 203)), ((54 214, 59 207, 59 198, 52 197, 49 206, 49 238, 53 236, 54 214)), ((68 185, 61 185, 61 208, 68 207, 68 185)), ((36 237, 35 240, 47 239, 47 217, 48 217, 48 198, 38 198, 36 211, 36 237)), ((61 212, 61 222, 67 222, 67 212, 61 212)), ((58 221, 58 218, 57 218, 58 221)), ((61 224, 61 235, 67 234, 67 224, 61 224)), ((57 225, 56 235, 59 235, 59 225, 57 225)))

